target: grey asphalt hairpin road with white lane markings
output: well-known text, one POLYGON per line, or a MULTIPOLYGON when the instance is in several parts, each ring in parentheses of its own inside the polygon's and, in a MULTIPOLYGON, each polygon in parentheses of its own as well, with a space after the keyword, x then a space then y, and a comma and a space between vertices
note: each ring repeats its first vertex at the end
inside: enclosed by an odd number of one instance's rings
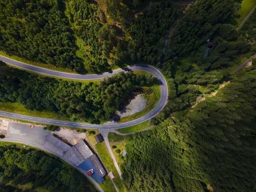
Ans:
POLYGON ((0 55, 0 60, 10 64, 15 67, 19 67, 25 70, 29 70, 35 73, 40 73, 44 74, 47 76, 55 76, 55 77, 61 77, 61 78, 66 78, 66 79, 78 79, 78 80, 93 80, 93 79, 103 79, 106 77, 113 76, 114 74, 117 74, 121 71, 127 72, 127 71, 147 71, 149 73, 152 73, 159 81, 160 83, 160 100, 157 104, 157 106, 147 113, 145 116, 140 117, 139 119, 135 119, 130 122, 125 122, 125 123, 115 123, 112 125, 94 125, 94 124, 86 124, 86 123, 77 123, 77 122, 69 122, 69 121, 59 121, 55 119, 44 119, 40 117, 34 117, 34 116, 26 116, 26 115, 20 115, 17 113, 9 113, 5 111, 0 111, 0 116, 6 116, 14 119, 22 119, 26 121, 32 121, 32 122, 39 122, 39 123, 45 123, 45 124, 51 124, 51 125, 59 125, 59 126, 69 126, 69 127, 77 127, 77 128, 90 128, 90 129, 117 129, 117 128, 125 128, 129 127, 132 125, 137 125, 141 122, 144 122, 148 119, 151 119, 159 111, 161 111, 164 107, 164 105, 167 102, 168 99, 168 87, 165 78, 163 75, 160 73, 159 70, 156 68, 149 66, 149 65, 144 65, 144 64, 139 64, 139 65, 131 65, 129 67, 125 67, 122 69, 114 70, 112 72, 108 73, 102 73, 102 74, 94 74, 94 75, 80 75, 80 74, 73 74, 73 73, 64 73, 64 72, 59 72, 59 71, 54 71, 54 70, 48 70, 45 68, 41 67, 35 67, 33 65, 25 64, 19 61, 15 61, 13 59, 4 57, 0 55))

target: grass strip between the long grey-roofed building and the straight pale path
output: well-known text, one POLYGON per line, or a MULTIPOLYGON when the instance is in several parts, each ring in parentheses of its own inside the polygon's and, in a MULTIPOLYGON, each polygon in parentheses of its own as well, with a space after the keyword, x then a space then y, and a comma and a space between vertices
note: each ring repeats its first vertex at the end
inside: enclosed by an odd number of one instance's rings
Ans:
MULTIPOLYGON (((108 170, 108 172, 113 172, 113 175, 115 176, 113 178, 113 181, 115 182, 119 192, 125 192, 125 189, 124 189, 124 186, 122 185, 122 180, 121 178, 119 177, 117 171, 116 171, 116 168, 113 164, 113 161, 110 157, 110 155, 108 154, 108 150, 107 150, 107 147, 105 145, 105 142, 101 142, 101 143, 98 143, 96 146, 96 149, 98 151, 98 153, 100 154, 100 157, 104 163, 104 165, 106 166, 106 169, 108 170)), ((105 182, 105 181, 104 181, 105 182)), ((116 191, 114 186, 112 185, 112 188, 108 188, 108 189, 103 189, 105 192, 114 192, 116 191)))

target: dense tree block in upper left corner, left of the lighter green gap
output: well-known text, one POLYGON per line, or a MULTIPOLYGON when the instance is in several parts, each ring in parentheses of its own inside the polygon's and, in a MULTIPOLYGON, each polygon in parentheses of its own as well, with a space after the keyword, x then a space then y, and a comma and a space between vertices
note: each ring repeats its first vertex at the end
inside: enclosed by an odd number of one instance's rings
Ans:
POLYGON ((81 69, 75 44, 58 0, 1 0, 0 49, 58 67, 81 69))

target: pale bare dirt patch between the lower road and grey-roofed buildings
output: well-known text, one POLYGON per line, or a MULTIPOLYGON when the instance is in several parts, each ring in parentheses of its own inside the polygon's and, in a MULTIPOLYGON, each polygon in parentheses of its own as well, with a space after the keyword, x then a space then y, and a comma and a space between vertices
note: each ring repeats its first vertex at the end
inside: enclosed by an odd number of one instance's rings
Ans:
POLYGON ((52 134, 58 135, 61 139, 66 140, 68 143, 75 145, 75 141, 85 140, 87 138, 85 133, 79 133, 76 130, 58 128, 56 131, 53 131, 52 134))

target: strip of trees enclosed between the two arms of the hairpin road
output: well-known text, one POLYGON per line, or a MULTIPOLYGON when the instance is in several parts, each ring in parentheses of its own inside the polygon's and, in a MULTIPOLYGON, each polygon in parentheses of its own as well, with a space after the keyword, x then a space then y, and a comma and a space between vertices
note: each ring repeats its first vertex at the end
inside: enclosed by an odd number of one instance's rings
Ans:
POLYGON ((154 77, 120 72, 99 83, 66 81, 31 74, 0 61, 0 102, 18 102, 28 110, 54 111, 79 120, 100 123, 111 119, 127 93, 154 77))

